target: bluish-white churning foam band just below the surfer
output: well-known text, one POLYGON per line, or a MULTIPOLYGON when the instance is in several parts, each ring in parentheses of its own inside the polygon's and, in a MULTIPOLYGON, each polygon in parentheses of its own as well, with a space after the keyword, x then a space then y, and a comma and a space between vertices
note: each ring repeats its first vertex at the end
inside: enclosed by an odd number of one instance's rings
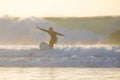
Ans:
POLYGON ((3 67, 120 67, 119 45, 0 46, 3 67))

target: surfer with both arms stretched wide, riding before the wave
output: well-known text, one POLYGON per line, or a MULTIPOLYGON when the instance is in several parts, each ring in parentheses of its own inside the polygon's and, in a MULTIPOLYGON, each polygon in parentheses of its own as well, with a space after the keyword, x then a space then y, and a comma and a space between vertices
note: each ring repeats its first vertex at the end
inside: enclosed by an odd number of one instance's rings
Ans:
POLYGON ((42 30, 44 32, 47 32, 50 35, 50 41, 49 41, 49 46, 50 47, 54 47, 54 44, 57 42, 57 35, 64 36, 61 33, 55 32, 52 27, 49 27, 48 30, 40 28, 38 26, 36 28, 39 29, 39 30, 42 30))

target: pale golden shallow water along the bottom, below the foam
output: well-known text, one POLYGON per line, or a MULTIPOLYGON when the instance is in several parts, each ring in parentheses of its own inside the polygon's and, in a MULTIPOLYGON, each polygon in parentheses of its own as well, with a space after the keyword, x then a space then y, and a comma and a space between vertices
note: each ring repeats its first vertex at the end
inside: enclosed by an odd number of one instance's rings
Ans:
POLYGON ((120 80, 120 68, 0 67, 0 80, 120 80))

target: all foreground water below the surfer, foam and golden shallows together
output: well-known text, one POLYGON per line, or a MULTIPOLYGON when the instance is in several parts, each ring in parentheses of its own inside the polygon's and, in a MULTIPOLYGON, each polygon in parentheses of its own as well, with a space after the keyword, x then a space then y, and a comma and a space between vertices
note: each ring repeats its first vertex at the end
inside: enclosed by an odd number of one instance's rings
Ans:
POLYGON ((120 46, 0 46, 0 80, 119 80, 120 46))

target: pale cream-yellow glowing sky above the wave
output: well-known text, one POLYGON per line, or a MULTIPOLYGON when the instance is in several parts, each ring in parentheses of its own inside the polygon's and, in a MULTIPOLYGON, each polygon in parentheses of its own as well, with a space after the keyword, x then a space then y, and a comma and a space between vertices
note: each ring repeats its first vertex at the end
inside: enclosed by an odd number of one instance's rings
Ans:
POLYGON ((120 0, 0 0, 0 16, 119 16, 120 0))

